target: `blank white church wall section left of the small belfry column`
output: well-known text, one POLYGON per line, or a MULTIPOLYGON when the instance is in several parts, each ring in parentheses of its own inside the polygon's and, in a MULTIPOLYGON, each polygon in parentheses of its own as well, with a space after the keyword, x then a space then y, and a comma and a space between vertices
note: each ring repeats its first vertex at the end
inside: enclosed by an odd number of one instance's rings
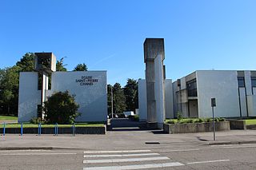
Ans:
POLYGON ((38 116, 41 90, 38 90, 37 72, 21 72, 19 75, 18 122, 25 122, 38 116))

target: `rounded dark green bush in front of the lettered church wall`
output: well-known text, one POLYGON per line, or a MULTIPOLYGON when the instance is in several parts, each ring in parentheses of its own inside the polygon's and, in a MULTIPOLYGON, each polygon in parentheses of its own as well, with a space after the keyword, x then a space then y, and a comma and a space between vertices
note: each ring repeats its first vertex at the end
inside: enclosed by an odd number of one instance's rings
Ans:
POLYGON ((44 104, 45 121, 50 124, 71 124, 80 115, 79 105, 68 91, 54 93, 44 104))

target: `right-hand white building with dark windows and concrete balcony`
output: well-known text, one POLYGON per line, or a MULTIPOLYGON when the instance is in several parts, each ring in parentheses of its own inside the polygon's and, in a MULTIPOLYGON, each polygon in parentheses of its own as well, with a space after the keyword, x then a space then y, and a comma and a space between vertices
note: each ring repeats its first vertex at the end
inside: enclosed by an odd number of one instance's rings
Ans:
POLYGON ((174 113, 182 112, 183 117, 212 117, 210 99, 214 97, 217 104, 215 117, 255 117, 254 77, 255 71, 190 73, 173 83, 174 113))

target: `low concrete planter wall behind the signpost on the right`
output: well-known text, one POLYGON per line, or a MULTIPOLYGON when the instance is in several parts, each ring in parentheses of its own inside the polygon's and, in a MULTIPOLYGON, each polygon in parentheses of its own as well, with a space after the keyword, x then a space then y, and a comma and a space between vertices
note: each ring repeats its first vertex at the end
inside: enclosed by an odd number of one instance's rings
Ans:
MULTIPOLYGON (((187 132, 211 132, 213 131, 213 123, 194 123, 194 124, 164 124, 164 132, 173 133, 187 133, 187 132)), ((216 131, 230 130, 229 121, 215 122, 216 131)))

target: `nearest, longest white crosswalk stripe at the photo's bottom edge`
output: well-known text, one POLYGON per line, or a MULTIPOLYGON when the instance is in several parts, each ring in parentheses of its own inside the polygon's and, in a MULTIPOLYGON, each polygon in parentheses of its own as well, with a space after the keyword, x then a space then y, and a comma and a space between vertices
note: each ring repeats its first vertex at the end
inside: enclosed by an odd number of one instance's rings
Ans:
POLYGON ((137 165, 126 165, 126 166, 110 166, 110 167, 90 167, 83 168, 83 170, 122 170, 122 169, 147 169, 147 168, 166 168, 166 167, 177 167, 182 166, 179 162, 165 163, 165 164, 137 164, 137 165))

